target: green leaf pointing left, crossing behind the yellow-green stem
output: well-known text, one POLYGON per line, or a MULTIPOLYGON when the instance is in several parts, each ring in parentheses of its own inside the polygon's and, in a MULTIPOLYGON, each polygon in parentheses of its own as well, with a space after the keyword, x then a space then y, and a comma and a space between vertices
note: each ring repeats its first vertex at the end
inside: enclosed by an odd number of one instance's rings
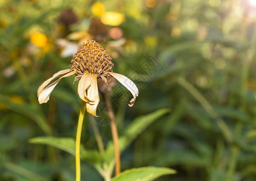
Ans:
MULTIPOLYGON (((32 144, 45 144, 58 148, 63 151, 67 151, 75 156, 75 139, 73 138, 56 138, 51 136, 36 137, 29 140, 32 144)), ((92 163, 98 163, 101 161, 101 156, 96 150, 86 150, 83 145, 80 148, 81 159, 87 160, 92 163)))

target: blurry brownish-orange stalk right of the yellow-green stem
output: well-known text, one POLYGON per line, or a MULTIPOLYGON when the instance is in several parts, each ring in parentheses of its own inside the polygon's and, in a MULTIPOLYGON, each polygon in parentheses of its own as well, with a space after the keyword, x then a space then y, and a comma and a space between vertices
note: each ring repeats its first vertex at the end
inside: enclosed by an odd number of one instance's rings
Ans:
POLYGON ((110 127, 112 132, 113 145, 115 149, 115 174, 116 176, 118 176, 121 171, 121 162, 120 162, 120 151, 118 147, 118 132, 116 129, 115 116, 114 116, 113 108, 110 103, 109 97, 107 97, 106 93, 103 93, 103 98, 107 105, 107 112, 110 118, 110 127))

